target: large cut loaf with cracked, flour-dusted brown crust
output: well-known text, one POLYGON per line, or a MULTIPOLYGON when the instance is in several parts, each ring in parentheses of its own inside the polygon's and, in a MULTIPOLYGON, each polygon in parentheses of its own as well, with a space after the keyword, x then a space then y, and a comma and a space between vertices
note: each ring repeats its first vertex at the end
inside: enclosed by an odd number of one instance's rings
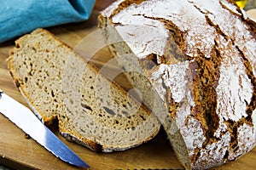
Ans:
POLYGON ((99 26, 185 168, 215 167, 253 149, 256 24, 234 3, 119 0, 99 26))

